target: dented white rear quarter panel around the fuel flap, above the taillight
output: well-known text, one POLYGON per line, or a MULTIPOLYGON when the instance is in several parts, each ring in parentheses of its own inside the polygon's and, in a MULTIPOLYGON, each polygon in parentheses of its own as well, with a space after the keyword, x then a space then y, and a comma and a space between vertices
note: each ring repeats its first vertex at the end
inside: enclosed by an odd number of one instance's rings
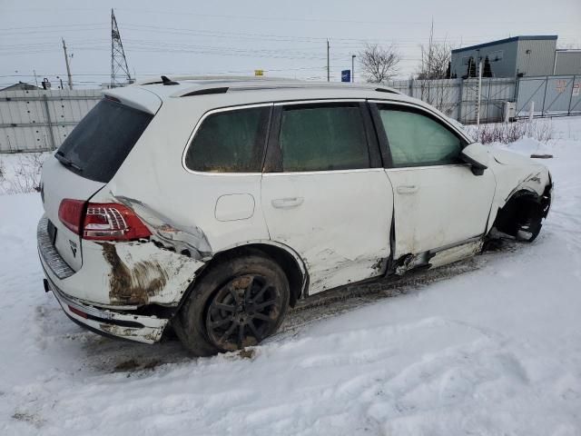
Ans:
POLYGON ((193 241, 192 248, 204 259, 234 243, 268 240, 260 206, 261 173, 192 173, 182 166, 198 120, 217 104, 212 95, 164 101, 120 171, 93 200, 128 200, 160 242, 177 251, 183 248, 180 240, 193 241), (216 203, 232 193, 251 195, 253 213, 246 219, 218 221, 216 203))

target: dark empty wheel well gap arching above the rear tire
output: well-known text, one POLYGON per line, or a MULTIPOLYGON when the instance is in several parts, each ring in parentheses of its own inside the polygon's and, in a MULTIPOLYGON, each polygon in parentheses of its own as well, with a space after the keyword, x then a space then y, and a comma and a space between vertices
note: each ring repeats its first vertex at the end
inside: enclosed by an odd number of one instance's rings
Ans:
POLYGON ((228 262, 229 259, 234 257, 240 257, 250 253, 255 254, 257 252, 270 257, 272 260, 274 260, 274 262, 281 266, 282 271, 284 271, 287 276, 287 280, 289 281, 289 288, 291 290, 291 299, 289 303, 291 307, 294 307, 297 300, 300 299, 300 293, 302 291, 302 284, 305 280, 306 272, 303 274, 299 264, 297 263, 297 260, 294 258, 294 256, 292 256, 291 253, 276 245, 271 245, 268 243, 251 243, 216 253, 212 257, 212 260, 206 264, 202 274, 210 271, 213 265, 222 262, 228 262))

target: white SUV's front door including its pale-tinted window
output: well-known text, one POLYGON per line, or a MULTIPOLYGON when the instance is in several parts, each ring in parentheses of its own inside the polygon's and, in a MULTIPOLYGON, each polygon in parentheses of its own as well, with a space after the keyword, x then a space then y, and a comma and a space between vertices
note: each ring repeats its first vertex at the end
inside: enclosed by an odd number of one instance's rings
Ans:
POLYGON ((437 114, 411 104, 370 104, 394 194, 394 259, 437 252, 486 231, 496 189, 487 169, 459 159, 468 142, 437 114))

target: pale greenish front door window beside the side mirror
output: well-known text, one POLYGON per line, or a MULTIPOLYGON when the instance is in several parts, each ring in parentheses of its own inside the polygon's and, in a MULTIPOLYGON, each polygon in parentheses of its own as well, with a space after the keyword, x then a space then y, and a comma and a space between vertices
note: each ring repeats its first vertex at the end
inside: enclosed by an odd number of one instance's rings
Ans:
POLYGON ((443 124, 413 110, 379 107, 394 167, 459 163, 463 141, 443 124))

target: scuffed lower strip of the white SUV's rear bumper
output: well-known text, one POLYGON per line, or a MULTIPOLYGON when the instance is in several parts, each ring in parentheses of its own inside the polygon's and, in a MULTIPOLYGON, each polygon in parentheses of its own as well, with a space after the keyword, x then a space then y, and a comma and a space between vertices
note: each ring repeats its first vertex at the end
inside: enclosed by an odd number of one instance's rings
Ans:
POLYGON ((169 320, 155 316, 134 315, 98 309, 66 295, 50 280, 44 282, 46 291, 52 291, 64 313, 74 322, 92 332, 128 341, 153 343, 162 338, 169 320))

